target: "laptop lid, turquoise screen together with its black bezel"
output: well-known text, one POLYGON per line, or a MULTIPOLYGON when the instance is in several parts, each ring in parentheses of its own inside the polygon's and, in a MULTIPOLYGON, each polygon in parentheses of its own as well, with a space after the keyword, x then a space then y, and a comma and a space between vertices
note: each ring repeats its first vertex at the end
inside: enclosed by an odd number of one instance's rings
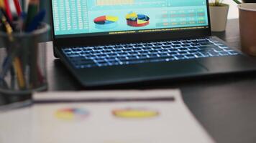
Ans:
POLYGON ((207 0, 52 0, 55 46, 211 35, 207 0))

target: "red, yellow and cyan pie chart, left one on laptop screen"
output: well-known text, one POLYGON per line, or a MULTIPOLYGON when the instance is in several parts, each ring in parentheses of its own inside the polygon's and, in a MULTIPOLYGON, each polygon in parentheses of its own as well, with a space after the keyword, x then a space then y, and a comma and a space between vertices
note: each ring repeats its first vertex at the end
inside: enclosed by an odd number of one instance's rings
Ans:
POLYGON ((96 17, 93 22, 95 24, 96 29, 114 29, 116 26, 118 26, 117 16, 99 16, 96 17))

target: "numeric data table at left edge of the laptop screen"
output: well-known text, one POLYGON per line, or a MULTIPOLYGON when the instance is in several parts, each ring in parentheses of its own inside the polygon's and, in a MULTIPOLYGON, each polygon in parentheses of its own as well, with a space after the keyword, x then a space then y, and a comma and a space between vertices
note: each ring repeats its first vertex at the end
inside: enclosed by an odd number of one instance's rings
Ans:
POLYGON ((55 34, 86 32, 88 25, 87 1, 52 0, 55 34), (65 33, 62 33, 62 32, 65 33))

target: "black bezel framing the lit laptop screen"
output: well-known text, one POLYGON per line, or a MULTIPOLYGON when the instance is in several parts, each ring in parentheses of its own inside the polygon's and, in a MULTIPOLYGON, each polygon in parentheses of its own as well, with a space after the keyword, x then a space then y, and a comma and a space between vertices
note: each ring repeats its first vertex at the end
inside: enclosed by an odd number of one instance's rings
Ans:
POLYGON ((209 15, 209 1, 206 1, 208 28, 205 29, 187 29, 180 31, 167 31, 167 32, 150 32, 150 33, 136 33, 136 34, 116 34, 104 36, 79 36, 79 37, 65 37, 57 38, 55 36, 52 12, 52 0, 50 0, 50 13, 51 13, 51 26, 52 26, 52 40, 54 46, 78 46, 78 45, 102 45, 102 44, 118 44, 130 43, 141 41, 161 41, 169 39, 186 39, 195 37, 211 36, 211 21, 209 15))

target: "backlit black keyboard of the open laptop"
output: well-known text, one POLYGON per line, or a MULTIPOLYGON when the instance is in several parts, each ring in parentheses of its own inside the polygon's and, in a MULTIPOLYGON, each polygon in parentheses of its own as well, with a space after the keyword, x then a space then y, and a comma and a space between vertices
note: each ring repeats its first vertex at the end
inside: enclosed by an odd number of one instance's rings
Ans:
POLYGON ((212 37, 105 46, 78 46, 62 50, 76 69, 239 54, 212 37))

